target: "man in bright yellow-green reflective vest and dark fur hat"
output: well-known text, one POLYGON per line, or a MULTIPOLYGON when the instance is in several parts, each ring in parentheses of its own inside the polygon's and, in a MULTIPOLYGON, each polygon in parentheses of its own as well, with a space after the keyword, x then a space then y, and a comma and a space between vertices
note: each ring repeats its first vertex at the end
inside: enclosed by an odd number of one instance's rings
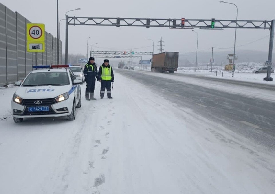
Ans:
POLYGON ((105 59, 102 66, 99 67, 98 79, 101 82, 100 98, 103 99, 105 88, 107 89, 107 97, 113 98, 111 97, 111 82, 114 82, 114 73, 108 59, 105 59))

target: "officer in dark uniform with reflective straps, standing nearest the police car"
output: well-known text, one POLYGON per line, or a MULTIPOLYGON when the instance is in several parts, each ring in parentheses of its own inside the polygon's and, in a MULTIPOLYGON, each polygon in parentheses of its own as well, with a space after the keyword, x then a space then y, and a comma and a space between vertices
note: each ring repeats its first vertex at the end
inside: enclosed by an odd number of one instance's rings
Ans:
POLYGON ((97 66, 95 64, 95 58, 90 57, 89 62, 85 65, 83 70, 86 81, 86 100, 96 100, 94 98, 95 90, 95 78, 98 79, 97 66))

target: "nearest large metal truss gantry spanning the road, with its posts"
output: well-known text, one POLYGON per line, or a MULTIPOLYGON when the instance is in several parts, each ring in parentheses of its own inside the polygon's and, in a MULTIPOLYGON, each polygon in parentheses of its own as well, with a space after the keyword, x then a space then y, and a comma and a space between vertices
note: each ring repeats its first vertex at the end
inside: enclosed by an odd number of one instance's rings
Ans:
MULTIPOLYGON (((116 27, 169 27, 171 29, 210 29, 211 19, 185 19, 184 27, 181 27, 181 19, 157 19, 157 18, 121 18, 121 17, 76 17, 66 15, 65 34, 65 64, 68 64, 68 25, 91 26, 116 26, 116 27)), ((269 29, 268 61, 272 62, 272 50, 274 39, 275 20, 226 20, 215 19, 214 29, 242 28, 242 29, 269 29)), ((214 30, 212 29, 212 30, 214 30)))

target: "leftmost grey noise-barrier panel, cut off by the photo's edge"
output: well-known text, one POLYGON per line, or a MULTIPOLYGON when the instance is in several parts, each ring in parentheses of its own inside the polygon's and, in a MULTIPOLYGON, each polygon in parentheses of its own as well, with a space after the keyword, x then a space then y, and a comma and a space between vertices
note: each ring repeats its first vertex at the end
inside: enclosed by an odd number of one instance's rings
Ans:
POLYGON ((0 84, 7 83, 6 7, 0 3, 0 84))

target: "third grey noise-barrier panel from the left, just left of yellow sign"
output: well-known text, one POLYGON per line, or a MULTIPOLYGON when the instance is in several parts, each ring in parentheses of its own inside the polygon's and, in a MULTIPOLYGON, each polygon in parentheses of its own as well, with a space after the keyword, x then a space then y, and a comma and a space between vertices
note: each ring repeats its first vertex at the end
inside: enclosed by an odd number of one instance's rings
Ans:
POLYGON ((26 42, 25 42, 25 17, 16 12, 17 23, 17 79, 25 78, 26 73, 26 42))

